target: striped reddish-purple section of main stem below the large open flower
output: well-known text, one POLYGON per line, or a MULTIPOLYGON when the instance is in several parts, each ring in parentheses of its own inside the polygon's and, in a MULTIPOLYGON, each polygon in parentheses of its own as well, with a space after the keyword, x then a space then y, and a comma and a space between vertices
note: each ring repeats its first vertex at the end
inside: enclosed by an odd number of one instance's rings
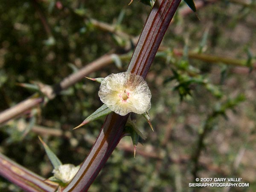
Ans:
POLYGON ((63 192, 82 192, 88 190, 122 138, 123 128, 127 119, 128 115, 119 116, 116 113, 111 113, 107 116, 90 154, 84 160, 75 178, 63 192))

